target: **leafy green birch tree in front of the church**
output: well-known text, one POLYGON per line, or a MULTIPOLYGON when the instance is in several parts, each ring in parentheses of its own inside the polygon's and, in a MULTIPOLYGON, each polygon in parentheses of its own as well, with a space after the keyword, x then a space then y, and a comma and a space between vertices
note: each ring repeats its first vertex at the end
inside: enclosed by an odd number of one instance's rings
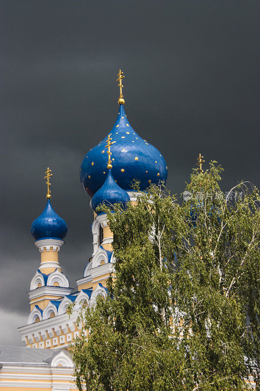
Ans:
POLYGON ((100 207, 116 279, 81 311, 79 390, 244 390, 250 375, 260 387, 260 197, 243 183, 236 200, 216 197, 215 163, 194 170, 181 205, 161 184, 126 211, 100 207))

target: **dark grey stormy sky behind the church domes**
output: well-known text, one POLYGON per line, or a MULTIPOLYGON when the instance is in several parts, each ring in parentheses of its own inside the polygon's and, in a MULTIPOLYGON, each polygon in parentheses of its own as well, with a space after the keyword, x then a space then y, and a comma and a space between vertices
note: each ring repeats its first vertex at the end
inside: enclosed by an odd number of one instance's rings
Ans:
POLYGON ((184 190, 199 152, 225 168, 222 190, 258 187, 260 1, 0 1, 0 344, 20 344, 26 291, 40 264, 30 234, 46 203, 69 231, 60 265, 71 286, 92 254, 79 168, 125 111, 184 190))

